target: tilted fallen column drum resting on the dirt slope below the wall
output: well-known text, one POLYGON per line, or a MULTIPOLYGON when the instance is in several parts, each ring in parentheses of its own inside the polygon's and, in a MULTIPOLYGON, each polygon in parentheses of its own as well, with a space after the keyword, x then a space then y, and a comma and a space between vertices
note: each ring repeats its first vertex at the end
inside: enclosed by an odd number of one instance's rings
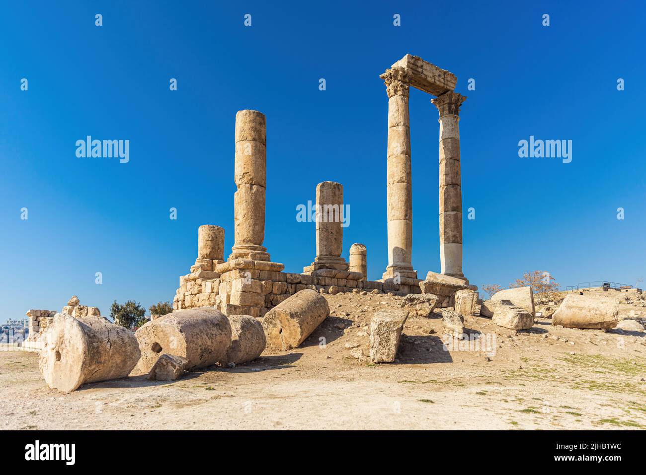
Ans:
POLYGON ((329 316, 328 301, 316 290, 300 290, 267 312, 262 327, 267 345, 291 350, 329 316))

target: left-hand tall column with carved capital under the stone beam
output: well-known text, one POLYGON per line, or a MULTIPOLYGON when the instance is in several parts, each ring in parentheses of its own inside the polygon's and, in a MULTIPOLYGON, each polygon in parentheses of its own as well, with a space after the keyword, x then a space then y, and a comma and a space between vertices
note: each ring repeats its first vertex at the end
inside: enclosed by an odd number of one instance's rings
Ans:
POLYGON ((411 265, 413 204, 410 165, 410 119, 408 92, 410 74, 391 68, 379 76, 388 94, 388 267, 384 279, 417 278, 411 265))

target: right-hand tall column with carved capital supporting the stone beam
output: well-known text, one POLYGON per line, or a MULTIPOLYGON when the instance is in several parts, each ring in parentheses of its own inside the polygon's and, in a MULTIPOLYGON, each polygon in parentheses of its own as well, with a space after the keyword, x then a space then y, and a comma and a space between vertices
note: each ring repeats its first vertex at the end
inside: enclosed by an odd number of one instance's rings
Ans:
POLYGON ((460 172, 460 106, 466 99, 446 92, 432 103, 440 118, 440 260, 442 274, 464 278, 462 272, 462 181, 460 172))

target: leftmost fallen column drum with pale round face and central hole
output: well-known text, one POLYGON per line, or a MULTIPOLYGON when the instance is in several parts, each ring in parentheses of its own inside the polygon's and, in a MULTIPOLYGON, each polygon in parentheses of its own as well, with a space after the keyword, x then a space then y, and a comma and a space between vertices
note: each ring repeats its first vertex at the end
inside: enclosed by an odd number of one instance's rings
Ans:
POLYGON ((39 368, 50 388, 72 392, 83 383, 125 378, 139 358, 129 329, 104 318, 57 314, 43 336, 39 368))

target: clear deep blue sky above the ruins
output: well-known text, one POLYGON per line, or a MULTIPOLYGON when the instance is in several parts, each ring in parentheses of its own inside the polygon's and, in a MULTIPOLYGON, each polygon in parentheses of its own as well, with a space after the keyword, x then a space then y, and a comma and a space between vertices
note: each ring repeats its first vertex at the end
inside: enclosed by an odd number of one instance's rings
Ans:
MULTIPOLYGON (((537 269, 562 286, 646 278, 640 3, 233 4, 2 1, 0 320, 60 309, 72 294, 104 315, 114 299, 172 300, 202 224, 225 228, 228 255, 234 117, 246 108, 267 116, 273 260, 288 272, 311 263, 314 225, 298 223, 296 207, 320 181, 339 181, 351 208, 344 256, 366 244, 369 278, 380 278, 388 97, 378 76, 407 53, 453 72, 468 96, 460 127, 463 206, 476 210, 463 226, 472 283, 506 286, 537 269), (77 158, 75 143, 88 135, 129 139, 129 163, 77 158), (518 141, 530 135, 572 140, 572 162, 519 158, 518 141)), ((410 95, 413 266, 422 277, 440 270, 430 99, 410 95)))

